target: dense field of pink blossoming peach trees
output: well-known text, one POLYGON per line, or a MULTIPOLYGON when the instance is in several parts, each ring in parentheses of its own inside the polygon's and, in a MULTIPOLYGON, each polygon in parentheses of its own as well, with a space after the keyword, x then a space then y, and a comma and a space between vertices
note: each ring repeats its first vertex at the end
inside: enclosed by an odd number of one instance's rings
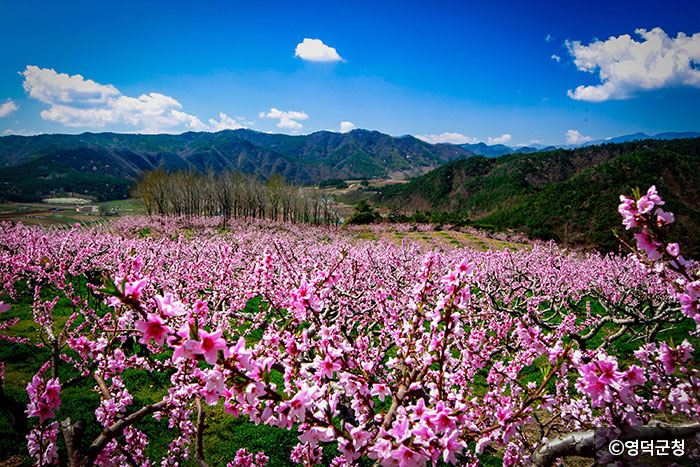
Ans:
POLYGON ((307 466, 608 463, 608 440, 588 430, 632 426, 685 439, 670 457, 687 458, 700 282, 666 239, 662 204, 653 189, 623 199, 640 249, 627 257, 443 251, 258 221, 219 231, 216 218, 2 224, 0 328, 49 355, 26 388, 28 453, 37 465, 268 463, 208 452, 216 411, 292 430, 287 462, 307 466), (11 332, 21 303, 32 335, 11 332), (157 400, 135 402, 134 373, 161 382, 157 400), (99 393, 85 402, 99 429, 69 418, 75 387, 99 393), (149 447, 153 419, 167 446, 149 447))

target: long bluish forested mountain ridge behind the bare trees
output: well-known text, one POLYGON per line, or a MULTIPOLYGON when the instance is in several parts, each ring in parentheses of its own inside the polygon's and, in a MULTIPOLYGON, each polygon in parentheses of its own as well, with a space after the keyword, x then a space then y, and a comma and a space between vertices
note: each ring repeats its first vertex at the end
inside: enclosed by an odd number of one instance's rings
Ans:
POLYGON ((95 178, 102 183, 104 177, 117 186, 117 180, 134 180, 156 167, 200 172, 229 169, 262 177, 279 173, 292 183, 415 176, 471 154, 459 146, 367 130, 303 136, 243 129, 180 135, 5 136, 0 138, 0 189, 9 192, 12 185, 16 195, 27 191, 33 195, 37 190, 72 187, 76 179, 95 178), (22 177, 17 178, 18 174, 22 177), (26 187, 31 179, 42 182, 26 187))

